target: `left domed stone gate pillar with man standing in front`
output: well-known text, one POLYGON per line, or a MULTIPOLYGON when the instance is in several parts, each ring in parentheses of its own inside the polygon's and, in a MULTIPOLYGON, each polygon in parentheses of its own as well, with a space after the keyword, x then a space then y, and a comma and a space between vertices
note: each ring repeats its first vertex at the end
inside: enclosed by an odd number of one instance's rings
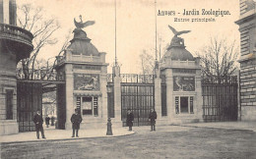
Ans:
MULTIPOLYGON (((83 25, 75 21, 74 37, 55 67, 66 78, 66 117, 58 121, 65 129, 72 127, 70 118, 79 110, 83 121, 80 128, 103 129, 107 123, 107 66, 104 52, 98 52, 83 25)), ((64 102, 63 102, 64 103, 64 102)))

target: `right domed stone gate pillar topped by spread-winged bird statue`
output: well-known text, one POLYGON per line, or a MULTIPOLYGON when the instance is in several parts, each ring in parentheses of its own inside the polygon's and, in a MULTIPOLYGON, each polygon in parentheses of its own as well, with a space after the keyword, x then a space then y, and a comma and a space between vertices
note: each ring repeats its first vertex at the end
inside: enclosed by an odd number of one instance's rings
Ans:
MULTIPOLYGON (((202 85, 200 59, 185 49, 181 31, 174 33, 160 61, 160 73, 165 76, 168 124, 200 122, 202 120, 202 85)), ((189 30, 182 31, 183 33, 189 30)))

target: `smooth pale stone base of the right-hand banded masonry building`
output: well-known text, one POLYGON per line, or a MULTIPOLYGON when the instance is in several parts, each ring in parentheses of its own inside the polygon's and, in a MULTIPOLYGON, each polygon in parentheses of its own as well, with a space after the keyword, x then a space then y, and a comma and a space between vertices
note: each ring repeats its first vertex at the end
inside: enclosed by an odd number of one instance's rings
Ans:
POLYGON ((241 107, 241 121, 254 122, 256 121, 256 106, 241 107))

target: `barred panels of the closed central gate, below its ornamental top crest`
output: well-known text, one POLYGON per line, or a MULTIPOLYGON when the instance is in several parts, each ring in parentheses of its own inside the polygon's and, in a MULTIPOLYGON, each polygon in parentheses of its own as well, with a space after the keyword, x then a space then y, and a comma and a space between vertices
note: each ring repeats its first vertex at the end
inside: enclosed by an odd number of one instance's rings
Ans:
POLYGON ((134 114, 134 126, 149 126, 151 108, 155 108, 155 86, 147 83, 121 83, 121 107, 123 126, 126 126, 127 110, 134 114))

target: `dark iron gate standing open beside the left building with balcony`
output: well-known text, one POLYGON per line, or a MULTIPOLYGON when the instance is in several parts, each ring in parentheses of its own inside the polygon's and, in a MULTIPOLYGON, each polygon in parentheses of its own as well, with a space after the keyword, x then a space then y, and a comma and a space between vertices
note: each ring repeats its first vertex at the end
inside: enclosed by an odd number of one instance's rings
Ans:
POLYGON ((42 110, 42 94, 55 91, 57 95, 57 128, 65 129, 65 78, 55 70, 28 70, 30 76, 17 71, 17 122, 19 132, 35 131, 32 122, 37 109, 42 110), (33 73, 33 74, 32 74, 33 73))

